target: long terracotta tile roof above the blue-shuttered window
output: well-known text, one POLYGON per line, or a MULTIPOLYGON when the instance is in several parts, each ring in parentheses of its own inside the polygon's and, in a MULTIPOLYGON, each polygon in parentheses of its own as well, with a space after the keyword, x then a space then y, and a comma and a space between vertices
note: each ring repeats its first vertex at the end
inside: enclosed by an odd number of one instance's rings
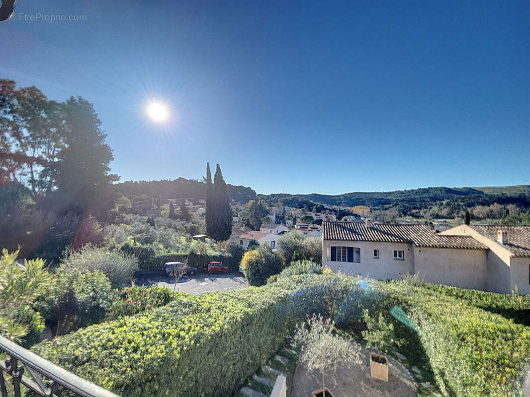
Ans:
POLYGON ((324 240, 413 242, 418 247, 488 249, 470 236, 444 236, 420 224, 323 222, 324 240))

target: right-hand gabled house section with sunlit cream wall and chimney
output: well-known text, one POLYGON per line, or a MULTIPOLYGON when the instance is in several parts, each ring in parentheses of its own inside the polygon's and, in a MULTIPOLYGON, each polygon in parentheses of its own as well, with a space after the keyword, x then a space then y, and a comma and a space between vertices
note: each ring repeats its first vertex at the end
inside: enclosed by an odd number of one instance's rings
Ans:
POLYGON ((466 236, 488 247, 485 291, 530 294, 530 227, 460 225, 440 236, 466 236))

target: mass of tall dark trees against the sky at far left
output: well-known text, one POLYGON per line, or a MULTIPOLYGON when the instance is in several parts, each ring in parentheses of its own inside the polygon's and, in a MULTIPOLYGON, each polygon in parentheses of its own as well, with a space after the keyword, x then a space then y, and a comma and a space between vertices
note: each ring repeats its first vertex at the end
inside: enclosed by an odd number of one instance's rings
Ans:
POLYGON ((57 259, 83 219, 109 220, 117 176, 100 125, 81 97, 58 103, 0 79, 0 246, 57 259))

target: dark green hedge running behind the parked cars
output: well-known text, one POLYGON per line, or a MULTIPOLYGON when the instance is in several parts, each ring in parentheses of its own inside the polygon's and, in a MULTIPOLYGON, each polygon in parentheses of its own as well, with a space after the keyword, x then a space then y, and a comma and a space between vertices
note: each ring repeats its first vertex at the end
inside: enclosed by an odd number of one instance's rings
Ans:
POLYGON ((227 265, 233 272, 239 268, 239 258, 234 258, 230 254, 218 252, 216 254, 197 254, 195 252, 171 252, 170 254, 157 255, 150 247, 132 246, 125 243, 120 248, 121 251, 129 255, 134 255, 138 259, 140 270, 161 270, 165 262, 183 262, 196 267, 202 272, 204 266, 210 261, 219 261, 227 265))

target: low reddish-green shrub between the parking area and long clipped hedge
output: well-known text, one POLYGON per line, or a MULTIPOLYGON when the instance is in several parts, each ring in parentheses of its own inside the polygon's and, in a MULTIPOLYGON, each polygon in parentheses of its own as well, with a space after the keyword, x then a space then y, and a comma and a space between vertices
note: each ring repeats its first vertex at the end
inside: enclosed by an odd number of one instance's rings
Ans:
MULTIPOLYGON (((107 320, 114 320, 124 315, 133 315, 145 310, 153 310, 171 302, 172 293, 167 287, 153 285, 151 287, 131 286, 121 291, 116 290, 117 300, 107 314, 107 320)), ((177 292, 175 297, 187 295, 177 292)))

